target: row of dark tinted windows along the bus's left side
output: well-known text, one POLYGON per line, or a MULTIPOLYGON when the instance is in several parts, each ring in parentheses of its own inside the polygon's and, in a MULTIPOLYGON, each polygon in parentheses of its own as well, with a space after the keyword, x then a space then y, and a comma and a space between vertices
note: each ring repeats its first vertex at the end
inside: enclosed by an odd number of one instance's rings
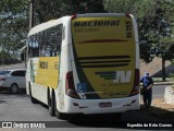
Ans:
POLYGON ((55 57, 61 51, 62 37, 64 38, 62 24, 29 36, 29 57, 55 57))

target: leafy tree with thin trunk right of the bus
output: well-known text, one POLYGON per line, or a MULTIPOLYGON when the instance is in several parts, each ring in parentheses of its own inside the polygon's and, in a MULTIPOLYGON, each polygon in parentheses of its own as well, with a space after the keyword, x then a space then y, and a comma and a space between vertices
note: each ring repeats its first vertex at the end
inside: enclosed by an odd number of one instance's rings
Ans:
MULTIPOLYGON (((147 46, 150 47, 150 51, 146 50, 148 55, 162 58, 162 80, 165 81, 165 61, 174 58, 173 22, 171 21, 174 8, 165 0, 156 0, 152 5, 156 8, 151 9, 150 15, 139 19, 140 23, 147 23, 139 26, 140 38, 147 40, 147 46)), ((144 50, 142 46, 140 49, 144 50)))

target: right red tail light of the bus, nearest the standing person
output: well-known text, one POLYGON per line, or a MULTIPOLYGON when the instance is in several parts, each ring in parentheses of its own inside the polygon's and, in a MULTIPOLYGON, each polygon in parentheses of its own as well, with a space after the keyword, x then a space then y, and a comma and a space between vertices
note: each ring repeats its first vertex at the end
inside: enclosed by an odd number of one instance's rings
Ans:
POLYGON ((134 85, 129 96, 136 95, 138 93, 139 93, 139 69, 135 69, 134 85))

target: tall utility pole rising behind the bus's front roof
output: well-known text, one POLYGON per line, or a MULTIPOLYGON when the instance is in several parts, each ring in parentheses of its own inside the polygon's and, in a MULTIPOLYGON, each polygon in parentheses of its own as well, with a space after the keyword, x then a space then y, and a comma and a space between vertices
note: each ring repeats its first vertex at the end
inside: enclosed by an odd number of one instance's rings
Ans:
POLYGON ((30 2, 29 8, 29 31, 34 26, 34 0, 28 0, 30 2))

